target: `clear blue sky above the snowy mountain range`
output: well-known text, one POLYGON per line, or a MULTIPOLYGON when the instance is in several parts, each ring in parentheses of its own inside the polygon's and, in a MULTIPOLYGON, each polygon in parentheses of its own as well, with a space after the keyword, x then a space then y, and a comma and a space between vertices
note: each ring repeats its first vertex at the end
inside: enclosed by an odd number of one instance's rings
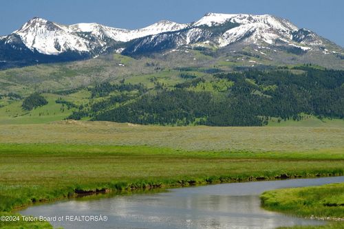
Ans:
POLYGON ((1 1, 0 34, 10 34, 32 17, 63 24, 98 22, 132 29, 162 19, 188 23, 206 12, 222 12, 273 14, 344 47, 343 9, 343 0, 11 0, 1 1))

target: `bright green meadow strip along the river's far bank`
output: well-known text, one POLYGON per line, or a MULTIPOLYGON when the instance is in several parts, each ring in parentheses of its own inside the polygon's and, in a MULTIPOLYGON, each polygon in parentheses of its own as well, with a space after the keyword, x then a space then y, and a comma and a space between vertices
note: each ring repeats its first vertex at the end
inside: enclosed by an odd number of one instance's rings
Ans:
POLYGON ((339 151, 252 153, 150 146, 1 144, 0 211, 79 194, 344 174, 339 151))

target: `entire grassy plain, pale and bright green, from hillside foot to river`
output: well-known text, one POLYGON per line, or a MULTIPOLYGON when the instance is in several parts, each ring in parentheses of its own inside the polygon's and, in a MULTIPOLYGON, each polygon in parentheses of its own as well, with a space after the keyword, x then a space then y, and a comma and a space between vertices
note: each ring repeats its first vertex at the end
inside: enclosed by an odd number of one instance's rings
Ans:
POLYGON ((341 124, 159 127, 68 120, 0 127, 0 215, 97 190, 344 174, 341 124))

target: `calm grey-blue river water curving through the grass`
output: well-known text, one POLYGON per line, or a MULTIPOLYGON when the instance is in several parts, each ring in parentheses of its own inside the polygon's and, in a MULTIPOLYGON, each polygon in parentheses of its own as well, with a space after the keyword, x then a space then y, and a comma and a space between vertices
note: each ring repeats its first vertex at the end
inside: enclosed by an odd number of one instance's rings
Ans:
POLYGON ((276 228, 319 225, 322 221, 290 217, 260 208, 265 190, 344 182, 344 177, 289 179, 175 188, 166 193, 67 200, 32 206, 22 215, 107 216, 107 221, 51 221, 63 228, 276 228))

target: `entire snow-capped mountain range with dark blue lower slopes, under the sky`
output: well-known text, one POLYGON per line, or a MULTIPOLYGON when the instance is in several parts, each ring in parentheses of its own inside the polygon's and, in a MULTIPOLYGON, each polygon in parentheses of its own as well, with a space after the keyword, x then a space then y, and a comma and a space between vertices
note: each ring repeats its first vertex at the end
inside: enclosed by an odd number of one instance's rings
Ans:
POLYGON ((138 30, 98 23, 61 25, 35 17, 12 34, 0 37, 0 61, 25 65, 74 61, 111 52, 135 55, 185 45, 221 49, 237 44, 297 48, 303 52, 341 49, 310 30, 268 14, 208 13, 193 23, 159 21, 138 30))

